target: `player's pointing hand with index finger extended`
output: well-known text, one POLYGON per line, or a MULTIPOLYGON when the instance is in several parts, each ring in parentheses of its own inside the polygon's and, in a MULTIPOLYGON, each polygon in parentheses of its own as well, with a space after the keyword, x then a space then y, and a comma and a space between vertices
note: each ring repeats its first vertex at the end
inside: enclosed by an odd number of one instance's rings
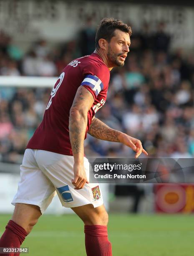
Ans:
POLYGON ((141 153, 144 153, 146 156, 148 156, 148 153, 145 151, 145 149, 142 147, 141 141, 133 138, 131 136, 128 136, 125 133, 121 133, 121 143, 125 144, 126 146, 132 148, 135 152, 135 158, 138 158, 138 156, 141 155, 141 153))

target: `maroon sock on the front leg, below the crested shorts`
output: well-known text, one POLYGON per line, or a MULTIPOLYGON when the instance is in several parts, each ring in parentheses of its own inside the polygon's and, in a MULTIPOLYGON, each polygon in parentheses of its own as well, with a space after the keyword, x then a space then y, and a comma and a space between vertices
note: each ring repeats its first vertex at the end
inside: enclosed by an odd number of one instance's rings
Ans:
POLYGON ((84 233, 87 256, 112 256, 107 226, 85 225, 84 233))

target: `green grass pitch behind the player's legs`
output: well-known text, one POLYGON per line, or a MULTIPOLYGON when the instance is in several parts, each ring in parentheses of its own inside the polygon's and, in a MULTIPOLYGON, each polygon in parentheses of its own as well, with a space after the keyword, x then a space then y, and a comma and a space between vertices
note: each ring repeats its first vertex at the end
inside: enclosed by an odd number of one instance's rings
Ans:
MULTIPOLYGON (((10 215, 0 215, 0 232, 10 215)), ((109 215, 113 256, 194 255, 192 215, 109 215)), ((22 247, 29 256, 85 256, 82 221, 76 215, 43 215, 22 247)), ((24 254, 21 254, 24 255, 24 254)))

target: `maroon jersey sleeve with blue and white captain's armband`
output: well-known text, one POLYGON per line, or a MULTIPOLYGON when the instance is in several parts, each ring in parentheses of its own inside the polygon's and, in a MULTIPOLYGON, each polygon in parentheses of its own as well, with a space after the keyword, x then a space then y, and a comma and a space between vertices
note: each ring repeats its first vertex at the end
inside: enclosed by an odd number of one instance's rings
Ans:
POLYGON ((101 91, 107 90, 110 72, 106 66, 90 64, 83 69, 83 73, 85 77, 81 85, 88 89, 96 100, 101 91))

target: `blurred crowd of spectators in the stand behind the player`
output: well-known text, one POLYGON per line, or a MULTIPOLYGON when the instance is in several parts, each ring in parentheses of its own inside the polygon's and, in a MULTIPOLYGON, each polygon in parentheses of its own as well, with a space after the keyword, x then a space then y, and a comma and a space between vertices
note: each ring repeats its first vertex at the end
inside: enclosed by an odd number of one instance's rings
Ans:
MULTIPOLYGON (((156 31, 144 24, 131 36, 124 67, 111 71, 107 101, 96 114, 111 128, 139 138, 149 156, 194 156, 194 51, 171 51, 165 23, 156 31)), ((0 32, 0 75, 60 75, 73 59, 94 50, 95 27, 88 19, 74 40, 50 46, 33 43, 27 52, 0 32)), ((43 118, 50 88, 0 87, 0 161, 20 163, 25 146, 43 118)), ((88 135, 87 156, 134 157, 120 143, 88 135)))

